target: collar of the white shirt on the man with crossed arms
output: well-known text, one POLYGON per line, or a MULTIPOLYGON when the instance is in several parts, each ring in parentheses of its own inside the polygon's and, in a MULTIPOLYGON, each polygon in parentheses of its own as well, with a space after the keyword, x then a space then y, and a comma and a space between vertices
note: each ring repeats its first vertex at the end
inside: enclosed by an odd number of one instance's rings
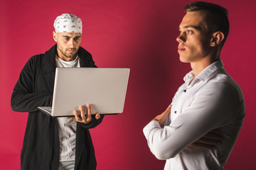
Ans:
POLYGON ((222 60, 218 60, 217 62, 213 62, 213 64, 210 64, 208 67, 206 67, 205 69, 203 69, 203 71, 201 73, 198 74, 197 77, 195 77, 195 74, 193 73, 193 70, 191 72, 188 72, 188 74, 186 74, 186 76, 184 77, 184 81, 185 82, 191 82, 191 85, 197 80, 201 80, 201 81, 206 81, 208 79, 210 79, 211 76, 214 75, 215 71, 217 71, 218 69, 222 69, 224 66, 222 60))

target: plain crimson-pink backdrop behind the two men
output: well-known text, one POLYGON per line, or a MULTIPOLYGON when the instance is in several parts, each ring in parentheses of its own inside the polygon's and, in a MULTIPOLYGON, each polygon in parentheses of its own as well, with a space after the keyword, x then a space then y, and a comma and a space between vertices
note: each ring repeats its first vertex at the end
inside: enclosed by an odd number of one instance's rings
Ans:
MULTIPOLYGON (((131 69, 124 113, 106 116, 90 130, 98 169, 163 169, 149 151, 142 128, 171 103, 189 64, 178 60, 176 37, 184 15, 180 0, 1 0, 0 169, 19 169, 28 113, 11 111, 14 84, 26 61, 48 50, 53 21, 74 13, 83 21, 82 47, 98 67, 131 69)), ((228 8, 230 35, 225 69, 245 95, 246 118, 225 169, 255 169, 255 1, 212 0, 228 8)))

